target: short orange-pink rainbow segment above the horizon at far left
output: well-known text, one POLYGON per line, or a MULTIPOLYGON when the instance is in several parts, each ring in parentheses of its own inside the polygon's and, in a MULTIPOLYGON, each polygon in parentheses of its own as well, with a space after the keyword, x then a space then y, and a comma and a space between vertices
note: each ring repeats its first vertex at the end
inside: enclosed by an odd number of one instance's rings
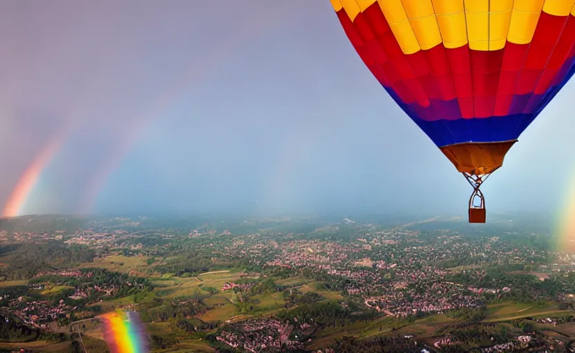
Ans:
POLYGON ((28 196, 30 196, 30 192, 32 192, 32 189, 40 179, 44 168, 52 161, 64 144, 64 141, 66 141, 66 137, 68 136, 67 132, 68 129, 48 141, 44 148, 36 155, 35 159, 30 163, 28 168, 26 168, 20 179, 18 179, 14 190, 12 190, 8 201, 6 201, 4 205, 1 216, 15 217, 21 213, 23 205, 25 205, 28 196))

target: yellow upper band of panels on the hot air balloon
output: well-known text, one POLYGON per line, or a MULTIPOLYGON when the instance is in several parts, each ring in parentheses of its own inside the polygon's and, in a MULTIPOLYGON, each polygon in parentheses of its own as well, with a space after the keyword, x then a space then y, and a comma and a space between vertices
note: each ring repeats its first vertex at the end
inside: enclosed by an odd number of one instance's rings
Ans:
POLYGON ((500 50, 533 38, 541 12, 575 16, 575 0, 330 0, 354 21, 379 5, 404 54, 431 49, 500 50))

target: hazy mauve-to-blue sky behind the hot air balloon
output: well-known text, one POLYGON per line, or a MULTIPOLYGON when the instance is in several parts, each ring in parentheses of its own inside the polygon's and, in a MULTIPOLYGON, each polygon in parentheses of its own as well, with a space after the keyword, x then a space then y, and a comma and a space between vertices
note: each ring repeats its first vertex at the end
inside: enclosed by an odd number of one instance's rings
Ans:
MULTIPOLYGON (((0 205, 13 214, 427 212, 471 188, 353 50, 293 0, 0 3, 0 205)), ((482 188, 565 208, 565 88, 482 188)))

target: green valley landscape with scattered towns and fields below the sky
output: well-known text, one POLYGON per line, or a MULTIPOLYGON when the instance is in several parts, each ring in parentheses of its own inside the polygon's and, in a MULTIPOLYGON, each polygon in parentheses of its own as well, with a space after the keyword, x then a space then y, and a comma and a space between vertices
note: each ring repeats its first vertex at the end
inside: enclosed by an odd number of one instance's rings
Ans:
POLYGON ((575 256, 536 219, 0 219, 0 352, 575 352, 575 256), (521 225, 519 225, 521 224, 521 225))

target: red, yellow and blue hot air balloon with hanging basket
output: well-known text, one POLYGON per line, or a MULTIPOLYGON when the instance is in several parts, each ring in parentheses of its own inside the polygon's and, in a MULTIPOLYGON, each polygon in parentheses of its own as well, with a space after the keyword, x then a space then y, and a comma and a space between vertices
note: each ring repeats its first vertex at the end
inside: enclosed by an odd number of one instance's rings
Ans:
POLYGON ((574 73, 575 0, 330 0, 359 57, 480 190, 574 73))

